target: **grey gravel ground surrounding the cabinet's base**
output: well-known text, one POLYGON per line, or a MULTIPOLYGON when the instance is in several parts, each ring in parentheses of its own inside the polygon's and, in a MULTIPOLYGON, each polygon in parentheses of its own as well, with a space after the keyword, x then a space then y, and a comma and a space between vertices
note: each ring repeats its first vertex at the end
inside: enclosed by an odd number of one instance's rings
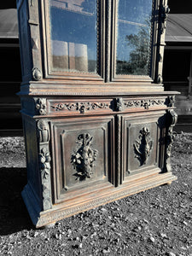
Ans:
POLYGON ((20 192, 22 137, 0 138, 0 255, 192 256, 192 134, 177 134, 171 186, 131 195, 36 230, 20 192))

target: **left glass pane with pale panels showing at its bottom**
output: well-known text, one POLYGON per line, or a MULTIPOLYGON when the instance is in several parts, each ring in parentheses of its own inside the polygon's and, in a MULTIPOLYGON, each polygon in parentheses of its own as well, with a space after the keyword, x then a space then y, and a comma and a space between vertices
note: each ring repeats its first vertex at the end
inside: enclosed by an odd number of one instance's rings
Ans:
POLYGON ((49 0, 52 70, 96 73, 96 0, 49 0))

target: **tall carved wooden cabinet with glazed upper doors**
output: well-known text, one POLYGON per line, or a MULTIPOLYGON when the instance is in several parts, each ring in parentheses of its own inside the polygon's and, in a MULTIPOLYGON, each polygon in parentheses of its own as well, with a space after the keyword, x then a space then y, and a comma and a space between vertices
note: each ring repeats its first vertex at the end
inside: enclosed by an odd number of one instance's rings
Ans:
POLYGON ((36 227, 172 183, 166 0, 18 0, 27 184, 36 227))

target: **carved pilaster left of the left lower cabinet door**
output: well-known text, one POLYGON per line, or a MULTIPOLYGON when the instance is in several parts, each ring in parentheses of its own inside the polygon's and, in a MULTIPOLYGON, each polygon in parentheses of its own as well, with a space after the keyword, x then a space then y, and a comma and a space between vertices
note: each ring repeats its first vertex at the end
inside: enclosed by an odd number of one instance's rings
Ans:
POLYGON ((42 183, 43 210, 52 207, 50 187, 50 154, 49 154, 49 124, 46 120, 38 120, 39 168, 42 183))

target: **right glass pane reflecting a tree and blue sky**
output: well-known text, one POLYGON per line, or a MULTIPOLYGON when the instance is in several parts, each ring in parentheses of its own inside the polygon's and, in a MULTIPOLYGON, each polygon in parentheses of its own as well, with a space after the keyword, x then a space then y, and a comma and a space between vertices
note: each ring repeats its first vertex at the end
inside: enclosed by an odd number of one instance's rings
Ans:
POLYGON ((116 73, 148 75, 153 0, 119 0, 116 73))

